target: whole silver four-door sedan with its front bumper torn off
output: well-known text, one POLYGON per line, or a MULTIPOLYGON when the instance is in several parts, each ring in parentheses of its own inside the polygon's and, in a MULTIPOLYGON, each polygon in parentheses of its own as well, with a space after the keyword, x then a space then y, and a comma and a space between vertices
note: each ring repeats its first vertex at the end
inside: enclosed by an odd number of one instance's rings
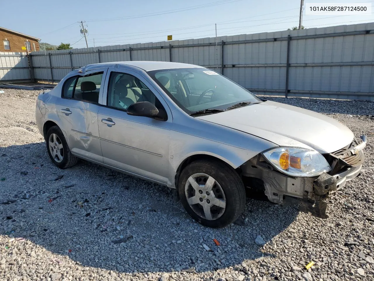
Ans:
POLYGON ((52 162, 78 158, 174 189, 194 220, 224 227, 246 188, 274 203, 315 202, 357 176, 366 138, 324 115, 261 99, 204 67, 89 64, 40 94, 36 120, 52 162))

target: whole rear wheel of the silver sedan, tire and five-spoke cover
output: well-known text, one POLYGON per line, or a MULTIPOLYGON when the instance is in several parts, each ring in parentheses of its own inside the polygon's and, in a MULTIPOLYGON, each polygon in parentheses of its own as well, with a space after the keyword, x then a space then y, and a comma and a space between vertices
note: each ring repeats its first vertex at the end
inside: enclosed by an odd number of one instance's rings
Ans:
POLYGON ((78 158, 71 154, 64 134, 58 126, 50 127, 46 136, 47 151, 53 164, 61 169, 74 166, 78 158))

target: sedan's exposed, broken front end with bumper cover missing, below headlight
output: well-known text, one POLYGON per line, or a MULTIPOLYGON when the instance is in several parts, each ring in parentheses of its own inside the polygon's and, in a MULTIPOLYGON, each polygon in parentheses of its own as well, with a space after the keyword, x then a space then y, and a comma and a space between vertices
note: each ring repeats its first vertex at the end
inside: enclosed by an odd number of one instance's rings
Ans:
MULTIPOLYGON (((366 144, 366 138, 362 138, 366 144)), ((354 141, 356 142, 356 141, 354 141)), ((357 142, 356 142, 357 143, 357 142)), ((357 155, 355 163, 346 163, 341 157, 329 154, 334 168, 316 177, 291 177, 275 170, 262 155, 250 159, 240 169, 246 187, 262 189, 270 202, 280 205, 303 203, 301 211, 312 212, 318 217, 326 217, 327 199, 330 194, 343 188, 347 181, 361 172, 365 145, 350 149, 357 155)), ((340 152, 347 149, 340 149, 340 152)), ((325 155, 326 158, 327 155, 325 155)), ((352 158, 352 157, 351 157, 352 158)))

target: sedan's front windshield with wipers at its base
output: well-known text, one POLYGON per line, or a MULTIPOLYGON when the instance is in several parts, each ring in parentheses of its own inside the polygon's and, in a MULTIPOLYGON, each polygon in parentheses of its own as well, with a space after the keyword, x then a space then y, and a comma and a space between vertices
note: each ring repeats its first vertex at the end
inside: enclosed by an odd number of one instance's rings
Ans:
POLYGON ((206 68, 162 69, 147 73, 188 114, 210 109, 227 110, 241 102, 261 102, 245 88, 206 68))

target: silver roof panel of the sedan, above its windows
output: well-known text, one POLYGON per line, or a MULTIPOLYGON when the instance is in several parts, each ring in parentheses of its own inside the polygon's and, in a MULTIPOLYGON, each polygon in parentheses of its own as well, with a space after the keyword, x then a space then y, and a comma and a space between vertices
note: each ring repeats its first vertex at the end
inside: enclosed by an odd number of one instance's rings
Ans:
POLYGON ((158 70, 158 69, 173 69, 173 68, 203 68, 202 66, 197 66, 188 63, 173 63, 169 61, 112 61, 110 63, 96 63, 88 64, 82 67, 85 71, 95 69, 98 67, 120 67, 122 66, 135 66, 141 68, 145 71, 158 70))

